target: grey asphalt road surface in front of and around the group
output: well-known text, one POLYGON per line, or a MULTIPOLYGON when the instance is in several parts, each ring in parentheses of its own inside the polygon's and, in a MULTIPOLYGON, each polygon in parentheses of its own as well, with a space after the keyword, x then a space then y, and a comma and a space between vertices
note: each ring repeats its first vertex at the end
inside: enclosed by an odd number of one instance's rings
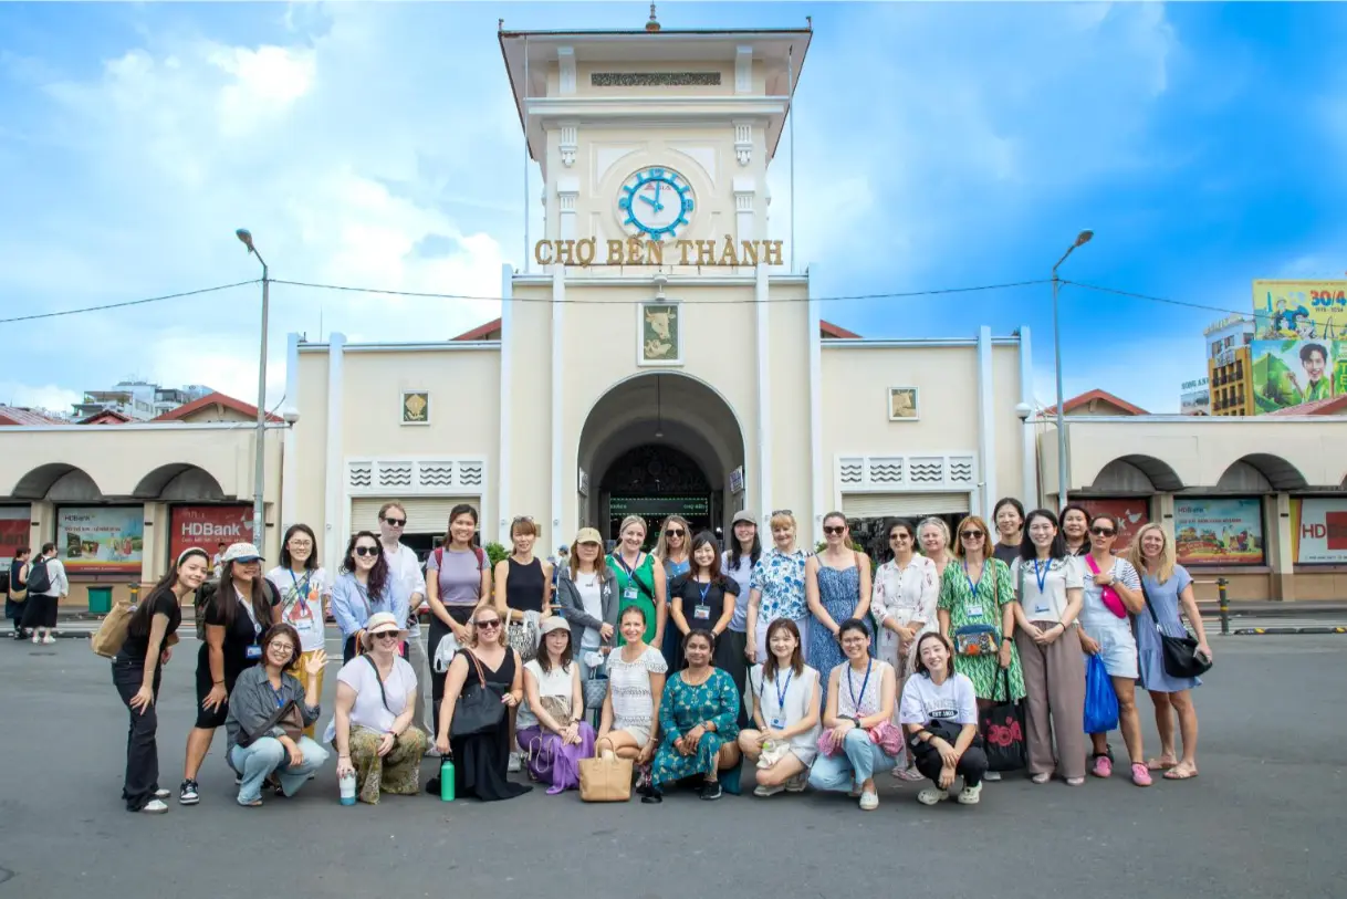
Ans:
MULTIPOLYGON (((180 776, 193 717, 193 647, 166 673, 166 786, 180 776)), ((869 814, 814 794, 591 806, 537 790, 494 805, 422 795, 346 809, 329 763, 295 799, 240 809, 221 733, 202 805, 151 817, 119 801, 125 712, 106 662, 78 640, 0 643, 0 896, 637 899, 731 884, 783 899, 1340 896, 1344 651, 1339 636, 1216 640, 1197 697, 1202 776, 1150 790, 1121 776, 1080 790, 1013 779, 989 784, 978 807, 927 809, 885 778, 869 814)))

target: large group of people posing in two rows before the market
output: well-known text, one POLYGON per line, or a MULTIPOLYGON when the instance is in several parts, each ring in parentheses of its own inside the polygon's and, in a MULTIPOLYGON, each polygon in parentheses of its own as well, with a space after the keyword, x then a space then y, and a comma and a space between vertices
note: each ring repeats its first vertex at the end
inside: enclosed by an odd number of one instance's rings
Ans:
MULTIPOLYGON (((745 511, 723 549, 675 515, 649 553, 645 520, 632 516, 607 554, 597 530, 581 528, 554 570, 533 555, 539 531, 524 516, 511 524, 511 554, 492 565, 474 545, 477 511, 462 504, 423 571, 400 543, 405 518, 387 504, 377 534, 350 538, 335 578, 318 565, 304 524, 286 532, 280 565, 265 577, 249 545, 226 549, 217 580, 207 581, 205 550, 175 561, 136 609, 112 666, 131 714, 128 810, 167 810, 154 705, 189 596, 203 639, 185 805, 199 801, 197 772, 221 724, 244 806, 261 805, 268 788, 292 795, 329 749, 366 803, 418 793, 428 755, 453 762, 458 797, 482 801, 532 790, 513 771, 555 794, 578 787, 583 759, 616 756, 634 763, 647 803, 676 787, 703 799, 738 793, 748 766, 758 797, 812 786, 872 810, 876 776, 892 771, 929 782, 923 803, 971 805, 999 776, 989 771, 982 721, 997 704, 1024 701, 1034 783, 1111 775, 1107 735, 1088 735, 1087 745, 1083 729, 1088 655, 1102 659, 1117 693, 1131 780, 1197 772, 1199 681, 1167 674, 1161 636, 1184 633, 1187 617, 1197 652, 1210 659, 1211 648, 1191 578, 1156 524, 1123 558, 1111 553, 1119 528, 1109 515, 1078 505, 1025 515, 1004 499, 995 535, 975 515, 956 540, 942 519, 890 522, 892 557, 876 567, 841 512, 823 519, 819 551, 796 545, 789 511, 769 518, 766 549, 745 511), (317 740, 325 604, 343 664, 317 740), (1161 739, 1150 759, 1138 682, 1161 739)), ((445 786, 432 776, 426 790, 445 786)))

